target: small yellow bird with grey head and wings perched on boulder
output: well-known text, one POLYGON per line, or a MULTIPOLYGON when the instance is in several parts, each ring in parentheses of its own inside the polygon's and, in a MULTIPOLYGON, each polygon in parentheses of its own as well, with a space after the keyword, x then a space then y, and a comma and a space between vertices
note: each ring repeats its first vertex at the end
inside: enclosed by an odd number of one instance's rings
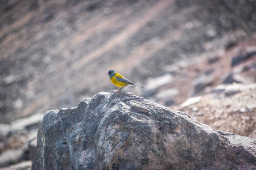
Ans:
POLYGON ((118 74, 117 72, 115 72, 115 70, 109 70, 107 74, 109 75, 111 82, 115 86, 120 87, 116 92, 121 91, 123 88, 125 88, 129 84, 133 85, 133 86, 138 86, 138 87, 144 88, 142 86, 139 86, 138 84, 134 84, 133 82, 131 82, 130 80, 128 80, 124 76, 122 76, 121 74, 118 74))

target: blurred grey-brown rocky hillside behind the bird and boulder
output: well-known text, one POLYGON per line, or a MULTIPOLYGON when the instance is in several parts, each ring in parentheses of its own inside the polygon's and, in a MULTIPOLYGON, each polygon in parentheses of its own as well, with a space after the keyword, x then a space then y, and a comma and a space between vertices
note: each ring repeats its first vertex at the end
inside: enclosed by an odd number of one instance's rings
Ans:
POLYGON ((230 122, 222 113, 231 108, 238 122, 246 117, 249 130, 234 130, 238 123, 221 130, 249 135, 256 126, 255 11, 250 0, 0 1, 0 167, 32 159, 27 141, 35 140, 48 110, 118 90, 106 75, 110 69, 145 87, 125 91, 200 122, 209 118, 214 97, 197 98, 207 107, 180 104, 223 83, 243 84, 217 97, 247 90, 218 105, 221 122, 211 127, 230 122))

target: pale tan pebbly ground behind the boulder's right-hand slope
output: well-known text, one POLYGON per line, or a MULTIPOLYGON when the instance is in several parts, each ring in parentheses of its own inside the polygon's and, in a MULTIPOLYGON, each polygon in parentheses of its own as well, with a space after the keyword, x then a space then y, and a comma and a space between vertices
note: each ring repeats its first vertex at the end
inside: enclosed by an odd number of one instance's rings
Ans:
MULTIPOLYGON (((215 130, 247 137, 256 129, 255 83, 222 84, 214 88, 211 93, 196 98, 200 101, 197 103, 186 101, 180 107, 172 109, 186 112, 215 130)), ((250 138, 254 138, 254 135, 251 134, 250 138)))

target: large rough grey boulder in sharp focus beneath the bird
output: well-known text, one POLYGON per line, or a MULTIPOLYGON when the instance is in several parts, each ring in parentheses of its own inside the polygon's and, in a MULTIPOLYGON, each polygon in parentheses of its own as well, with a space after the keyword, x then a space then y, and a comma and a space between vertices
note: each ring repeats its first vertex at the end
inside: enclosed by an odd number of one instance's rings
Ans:
POLYGON ((255 169, 256 141, 130 92, 48 111, 32 169, 255 169))

